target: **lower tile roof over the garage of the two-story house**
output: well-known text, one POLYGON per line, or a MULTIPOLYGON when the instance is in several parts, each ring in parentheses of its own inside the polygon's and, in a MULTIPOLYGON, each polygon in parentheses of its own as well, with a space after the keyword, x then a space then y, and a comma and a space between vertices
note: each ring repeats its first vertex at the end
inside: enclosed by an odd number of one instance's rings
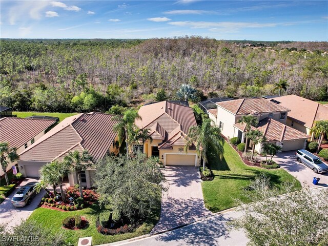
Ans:
MULTIPOLYGON (((244 123, 236 123, 234 126, 241 131, 245 130, 244 123)), ((286 126, 272 118, 264 118, 260 120, 257 128, 252 127, 252 130, 256 129, 263 133, 263 135, 267 138, 267 141, 289 141, 310 138, 309 135, 292 127, 286 126)))

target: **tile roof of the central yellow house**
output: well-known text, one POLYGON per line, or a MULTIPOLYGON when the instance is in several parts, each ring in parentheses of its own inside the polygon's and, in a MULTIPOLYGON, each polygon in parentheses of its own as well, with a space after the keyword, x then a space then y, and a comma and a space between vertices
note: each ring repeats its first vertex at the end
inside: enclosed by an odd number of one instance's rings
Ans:
POLYGON ((197 126, 192 108, 170 101, 142 106, 139 109, 141 120, 136 120, 139 128, 149 128, 154 139, 162 139, 158 148, 170 149, 173 145, 185 142, 189 128, 197 126))

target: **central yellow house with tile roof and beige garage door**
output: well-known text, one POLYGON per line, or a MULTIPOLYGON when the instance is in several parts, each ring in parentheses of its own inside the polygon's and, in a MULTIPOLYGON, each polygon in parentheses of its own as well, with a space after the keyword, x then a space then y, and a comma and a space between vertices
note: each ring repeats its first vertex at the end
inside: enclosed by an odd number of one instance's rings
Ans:
POLYGON ((134 145, 135 150, 150 156, 158 156, 164 165, 199 166, 200 156, 195 146, 184 150, 189 128, 197 126, 193 110, 190 107, 170 101, 145 105, 139 109, 141 119, 136 120, 140 129, 150 129, 153 141, 134 145))

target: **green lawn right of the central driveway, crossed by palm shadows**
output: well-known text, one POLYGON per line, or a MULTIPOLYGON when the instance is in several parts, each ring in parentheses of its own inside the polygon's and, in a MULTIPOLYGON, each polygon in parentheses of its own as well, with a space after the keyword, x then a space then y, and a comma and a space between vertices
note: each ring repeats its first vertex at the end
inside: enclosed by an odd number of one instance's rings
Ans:
POLYGON ((249 167, 243 163, 238 153, 226 142, 222 160, 216 156, 209 158, 210 168, 213 171, 212 181, 202 182, 205 206, 212 212, 218 212, 235 207, 235 199, 246 201, 243 197, 243 188, 247 187, 255 176, 263 172, 271 177, 274 186, 281 186, 284 181, 296 181, 296 187, 301 184, 292 175, 282 169, 266 170, 249 167))

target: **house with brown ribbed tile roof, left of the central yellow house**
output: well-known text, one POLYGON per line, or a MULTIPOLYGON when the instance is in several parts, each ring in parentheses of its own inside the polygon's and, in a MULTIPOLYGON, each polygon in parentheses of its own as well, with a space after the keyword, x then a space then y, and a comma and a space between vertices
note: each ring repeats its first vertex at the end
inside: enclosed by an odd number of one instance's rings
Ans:
MULTIPOLYGON (((118 153, 117 134, 113 131, 116 121, 106 113, 81 113, 65 118, 35 144, 19 155, 19 171, 25 177, 39 177, 40 168, 53 160, 62 161, 70 151, 87 150, 93 162, 107 155, 118 153)), ((94 169, 81 173, 82 185, 90 188, 95 176, 94 169)), ((70 186, 76 183, 76 174, 68 176, 70 186)))

